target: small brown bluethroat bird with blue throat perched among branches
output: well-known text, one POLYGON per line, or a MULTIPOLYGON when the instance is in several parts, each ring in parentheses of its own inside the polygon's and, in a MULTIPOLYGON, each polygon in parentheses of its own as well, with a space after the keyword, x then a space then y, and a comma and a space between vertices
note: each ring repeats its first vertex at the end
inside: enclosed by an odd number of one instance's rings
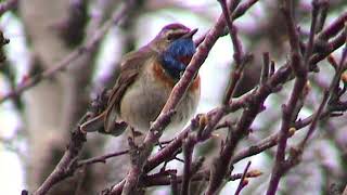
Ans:
MULTIPOLYGON (((169 24, 150 43, 126 54, 106 109, 80 129, 86 132, 104 127, 105 132, 119 135, 127 123, 140 132, 149 130, 195 53, 192 37, 196 31, 181 24, 169 24)), ((194 114, 198 100, 197 75, 168 128, 182 128, 194 114)))

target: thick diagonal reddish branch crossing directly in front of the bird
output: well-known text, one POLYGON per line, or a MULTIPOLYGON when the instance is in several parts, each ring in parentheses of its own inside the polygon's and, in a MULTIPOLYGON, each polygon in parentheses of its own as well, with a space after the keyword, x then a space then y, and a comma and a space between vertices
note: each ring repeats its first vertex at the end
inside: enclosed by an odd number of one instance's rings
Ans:
MULTIPOLYGON (((165 129, 165 123, 168 123, 167 113, 174 110, 178 105, 181 98, 184 95, 187 89, 190 87, 192 79, 197 74, 198 68, 205 62, 208 53, 219 35, 224 29, 226 21, 223 16, 220 16, 216 23, 216 25, 208 31, 204 41, 198 46, 197 52, 194 54, 192 61, 188 65, 183 77, 180 81, 174 87, 171 94, 165 104, 162 113, 157 117, 157 119, 152 123, 150 131, 147 132, 145 140, 143 142, 143 146, 141 147, 141 155, 139 157, 139 162, 136 166, 130 168, 130 171, 126 178, 126 184, 124 186, 123 194, 133 194, 138 190, 139 179, 143 173, 143 167, 147 157, 150 156, 154 144, 160 138, 163 130, 165 129)), ((217 123, 216 123, 217 125, 217 123)))

